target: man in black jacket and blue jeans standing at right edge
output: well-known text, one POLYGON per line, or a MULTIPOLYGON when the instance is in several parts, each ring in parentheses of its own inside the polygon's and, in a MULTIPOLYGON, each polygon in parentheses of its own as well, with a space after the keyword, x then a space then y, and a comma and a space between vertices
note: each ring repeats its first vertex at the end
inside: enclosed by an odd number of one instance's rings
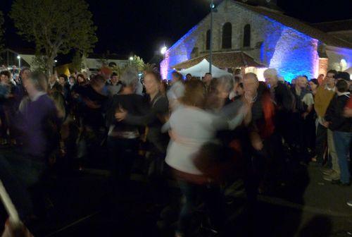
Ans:
MULTIPOLYGON (((350 92, 348 92, 349 83, 341 79, 343 75, 339 76, 338 74, 337 78, 337 97, 334 97, 329 104, 325 119, 328 128, 333 131, 334 144, 341 171, 340 180, 332 181, 332 183, 347 186, 351 182, 351 174, 348 170, 348 156, 352 140, 352 120, 344 116, 344 108, 350 98, 350 92)), ((349 76, 346 79, 349 80, 349 76)))

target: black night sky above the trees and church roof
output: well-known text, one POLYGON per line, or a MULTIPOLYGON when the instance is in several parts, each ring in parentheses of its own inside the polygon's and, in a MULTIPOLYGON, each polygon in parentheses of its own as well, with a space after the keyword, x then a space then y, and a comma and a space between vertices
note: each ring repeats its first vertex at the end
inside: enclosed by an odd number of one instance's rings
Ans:
MULTIPOLYGON (((30 0, 28 0, 30 1, 30 0)), ((58 0, 59 1, 59 0, 58 0)), ((206 16, 210 0, 87 0, 98 27, 99 42, 94 52, 134 53, 149 61, 154 51, 170 47, 206 16)), ((220 0, 215 3, 219 3, 220 0)), ((11 0, 1 0, 0 11, 11 9, 11 0)), ((318 23, 352 18, 352 0, 277 0, 287 15, 318 23)), ((6 16, 6 46, 32 47, 15 34, 6 16)))

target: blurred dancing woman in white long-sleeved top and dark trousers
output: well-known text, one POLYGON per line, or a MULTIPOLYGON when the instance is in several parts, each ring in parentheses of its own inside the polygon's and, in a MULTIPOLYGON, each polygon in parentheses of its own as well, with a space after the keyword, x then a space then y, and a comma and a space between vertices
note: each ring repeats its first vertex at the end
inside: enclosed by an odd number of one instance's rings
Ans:
POLYGON ((204 104, 203 84, 200 81, 187 82, 184 96, 180 98, 180 107, 171 114, 170 120, 163 127, 164 130, 170 131, 171 137, 165 162, 174 169, 182 193, 186 197, 176 236, 184 236, 187 232, 198 195, 206 197, 204 202, 210 210, 210 217, 216 221, 221 219, 219 188, 202 174, 194 164, 194 159, 203 145, 215 139, 218 130, 234 128, 243 119, 242 116, 237 116, 227 121, 204 111, 204 104))

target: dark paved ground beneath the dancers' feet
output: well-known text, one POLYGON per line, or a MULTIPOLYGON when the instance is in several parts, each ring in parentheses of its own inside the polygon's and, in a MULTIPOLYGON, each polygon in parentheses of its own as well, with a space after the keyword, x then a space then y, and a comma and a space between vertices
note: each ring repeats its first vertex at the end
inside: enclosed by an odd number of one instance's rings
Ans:
MULTIPOLYGON (((258 197, 254 218, 246 212, 241 182, 227 190, 227 223, 219 236, 352 236, 352 207, 346 205, 352 187, 323 181, 311 166, 297 164, 287 177, 284 185, 258 197)), ((61 176, 48 191, 52 207, 47 217, 32 227, 35 236, 173 236, 180 200, 174 183, 166 197, 172 205, 165 210, 165 205, 153 205, 142 176, 132 179, 132 195, 117 202, 104 171, 61 176)), ((199 211, 195 226, 201 217, 199 211)), ((211 235, 200 231, 197 236, 211 235)))

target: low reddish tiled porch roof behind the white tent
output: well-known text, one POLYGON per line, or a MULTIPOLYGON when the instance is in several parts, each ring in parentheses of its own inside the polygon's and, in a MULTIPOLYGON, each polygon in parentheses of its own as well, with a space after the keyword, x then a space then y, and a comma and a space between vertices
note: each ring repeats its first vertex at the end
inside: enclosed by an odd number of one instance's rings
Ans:
MULTIPOLYGON (((182 63, 178 63, 171 68, 190 68, 198 63, 200 63, 203 59, 209 59, 209 54, 204 54, 202 56, 197 56, 194 59, 189 59, 187 61, 183 61, 182 63)), ((251 56, 248 56, 242 51, 230 51, 230 52, 215 52, 213 53, 213 63, 214 66, 218 68, 241 68, 241 67, 249 67, 253 66, 256 68, 263 68, 265 66, 261 65, 254 61, 251 56)))

